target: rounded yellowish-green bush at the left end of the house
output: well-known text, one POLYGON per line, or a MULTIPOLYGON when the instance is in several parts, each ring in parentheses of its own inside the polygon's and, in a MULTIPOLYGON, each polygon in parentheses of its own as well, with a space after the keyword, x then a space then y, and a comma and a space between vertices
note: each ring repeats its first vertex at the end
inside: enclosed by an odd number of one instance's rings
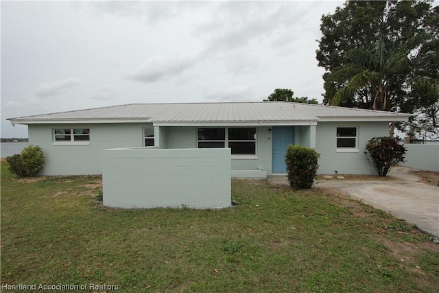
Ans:
POLYGON ((18 177, 36 176, 43 169, 44 159, 43 149, 32 144, 24 148, 21 154, 6 157, 10 172, 18 177))

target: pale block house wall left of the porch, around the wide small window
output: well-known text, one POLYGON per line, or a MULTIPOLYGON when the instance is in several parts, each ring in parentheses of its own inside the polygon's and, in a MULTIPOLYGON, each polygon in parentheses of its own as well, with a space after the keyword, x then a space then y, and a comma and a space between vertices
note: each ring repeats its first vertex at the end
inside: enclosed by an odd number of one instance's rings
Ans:
POLYGON ((152 124, 34 124, 29 143, 40 145, 45 163, 39 175, 102 173, 102 150, 143 146, 143 128, 152 124), (54 128, 90 128, 90 145, 52 145, 54 128))

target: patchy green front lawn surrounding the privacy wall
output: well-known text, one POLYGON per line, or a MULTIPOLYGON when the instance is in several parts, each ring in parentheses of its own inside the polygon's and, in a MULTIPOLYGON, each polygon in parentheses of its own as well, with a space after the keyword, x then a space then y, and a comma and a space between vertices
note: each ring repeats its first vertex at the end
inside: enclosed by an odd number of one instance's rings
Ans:
POLYGON ((338 194, 234 180, 229 209, 119 210, 97 202, 99 183, 16 179, 1 165, 1 283, 118 292, 439 288, 438 244, 338 194))

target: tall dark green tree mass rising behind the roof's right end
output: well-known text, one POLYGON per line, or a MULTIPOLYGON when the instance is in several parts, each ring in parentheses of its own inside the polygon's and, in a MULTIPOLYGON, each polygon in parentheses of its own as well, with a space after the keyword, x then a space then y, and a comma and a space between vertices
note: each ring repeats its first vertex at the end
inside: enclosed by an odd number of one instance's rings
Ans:
POLYGON ((322 16, 320 30, 324 104, 415 113, 401 130, 419 134, 425 121, 438 129, 432 110, 439 97, 438 6, 346 1, 322 16))

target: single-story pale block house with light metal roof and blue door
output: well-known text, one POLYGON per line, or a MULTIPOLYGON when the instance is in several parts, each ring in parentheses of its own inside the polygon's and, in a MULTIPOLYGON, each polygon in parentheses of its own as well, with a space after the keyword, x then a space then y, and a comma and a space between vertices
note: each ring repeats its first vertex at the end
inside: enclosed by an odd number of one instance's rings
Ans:
MULTIPOLYGON (((285 174, 290 143, 315 148, 319 174, 373 174, 372 137, 410 115, 290 102, 127 104, 10 118, 46 156, 41 175, 102 173, 110 148, 230 148, 233 177, 285 174)), ((262 177, 263 177, 262 176, 262 177)))

